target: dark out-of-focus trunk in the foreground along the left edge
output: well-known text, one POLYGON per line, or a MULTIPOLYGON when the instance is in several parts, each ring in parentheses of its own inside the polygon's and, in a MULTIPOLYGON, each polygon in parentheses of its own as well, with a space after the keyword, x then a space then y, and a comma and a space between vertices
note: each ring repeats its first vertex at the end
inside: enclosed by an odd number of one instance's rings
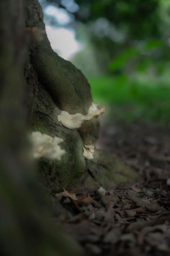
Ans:
POLYGON ((0 34, 0 253, 79 255, 78 246, 50 221, 35 166, 27 154, 27 46, 22 0, 0 1, 0 34))

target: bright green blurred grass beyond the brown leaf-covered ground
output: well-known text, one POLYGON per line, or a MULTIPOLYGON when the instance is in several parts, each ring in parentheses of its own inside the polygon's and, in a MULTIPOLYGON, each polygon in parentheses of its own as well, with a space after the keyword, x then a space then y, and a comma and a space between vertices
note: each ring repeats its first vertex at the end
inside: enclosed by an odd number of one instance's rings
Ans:
POLYGON ((112 118, 153 120, 165 125, 170 120, 170 86, 162 81, 142 82, 128 80, 125 75, 117 77, 89 77, 95 103, 102 102, 113 110, 112 118), (115 109, 115 111, 114 111, 115 109))

